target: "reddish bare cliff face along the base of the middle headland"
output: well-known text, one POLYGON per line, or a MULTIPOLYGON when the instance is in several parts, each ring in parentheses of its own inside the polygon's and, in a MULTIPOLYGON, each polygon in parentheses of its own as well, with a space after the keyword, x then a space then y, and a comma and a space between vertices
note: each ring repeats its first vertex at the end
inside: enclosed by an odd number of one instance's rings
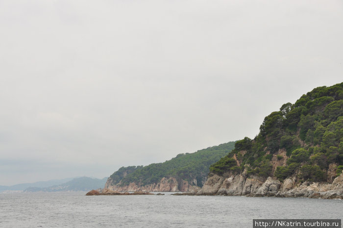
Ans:
POLYGON ((139 185, 135 182, 131 182, 130 184, 123 186, 121 186, 120 183, 113 185, 112 180, 108 178, 105 189, 118 192, 196 192, 200 187, 192 185, 186 180, 176 179, 175 177, 163 177, 157 184, 139 185))

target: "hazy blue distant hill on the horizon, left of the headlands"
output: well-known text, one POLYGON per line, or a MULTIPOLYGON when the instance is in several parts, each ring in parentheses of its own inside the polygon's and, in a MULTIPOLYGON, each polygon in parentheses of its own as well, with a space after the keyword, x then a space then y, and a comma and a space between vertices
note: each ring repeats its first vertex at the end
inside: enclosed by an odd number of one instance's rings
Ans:
POLYGON ((78 177, 66 183, 45 188, 29 187, 25 189, 25 192, 90 191, 92 189, 102 188, 105 185, 106 180, 107 177, 104 177, 103 179, 78 177))

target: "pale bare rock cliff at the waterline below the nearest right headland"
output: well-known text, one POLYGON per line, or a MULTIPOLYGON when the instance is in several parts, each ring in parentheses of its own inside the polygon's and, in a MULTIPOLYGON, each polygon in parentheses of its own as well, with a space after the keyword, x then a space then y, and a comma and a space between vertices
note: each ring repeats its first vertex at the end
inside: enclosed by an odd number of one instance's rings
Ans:
POLYGON ((196 195, 343 199, 343 174, 336 177, 332 183, 299 183, 296 177, 286 178, 283 182, 275 177, 247 177, 246 170, 236 175, 231 172, 221 176, 211 173, 196 195))

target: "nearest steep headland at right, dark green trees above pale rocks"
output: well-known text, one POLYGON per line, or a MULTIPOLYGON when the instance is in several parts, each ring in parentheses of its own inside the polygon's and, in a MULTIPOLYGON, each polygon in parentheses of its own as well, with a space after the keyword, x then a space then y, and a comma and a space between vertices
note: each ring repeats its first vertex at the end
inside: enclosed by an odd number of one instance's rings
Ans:
POLYGON ((343 83, 318 87, 238 141, 197 194, 343 198, 342 138, 343 83))

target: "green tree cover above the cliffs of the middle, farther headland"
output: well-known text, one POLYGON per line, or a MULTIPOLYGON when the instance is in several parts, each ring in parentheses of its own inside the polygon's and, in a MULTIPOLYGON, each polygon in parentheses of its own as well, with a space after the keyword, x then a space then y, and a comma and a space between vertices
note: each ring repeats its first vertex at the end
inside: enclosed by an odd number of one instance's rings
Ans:
POLYGON ((122 167, 112 174, 110 179, 113 184, 120 182, 120 185, 127 185, 135 182, 147 185, 158 183, 163 177, 176 177, 189 182, 196 179, 196 184, 201 187, 208 175, 210 165, 231 152, 234 145, 235 142, 229 142, 194 153, 180 153, 169 161, 144 167, 122 167))

